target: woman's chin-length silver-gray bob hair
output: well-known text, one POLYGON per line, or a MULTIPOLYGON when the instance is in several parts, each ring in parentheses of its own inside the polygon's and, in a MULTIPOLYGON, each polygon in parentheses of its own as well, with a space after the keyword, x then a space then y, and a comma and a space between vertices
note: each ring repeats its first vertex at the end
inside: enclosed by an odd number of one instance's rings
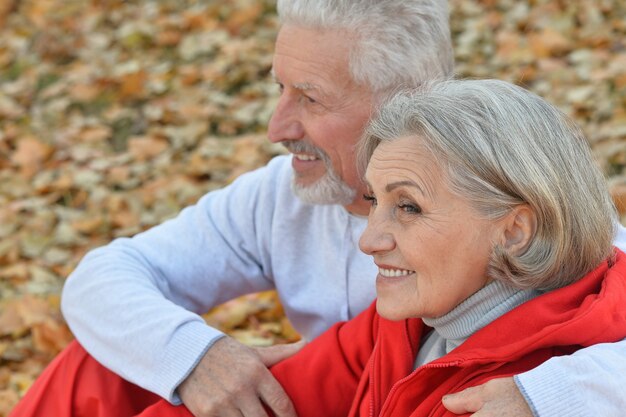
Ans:
POLYGON ((485 218, 528 204, 537 228, 521 254, 494 248, 488 274, 519 288, 567 285, 612 254, 616 210, 580 129, 556 107, 497 80, 448 80, 401 92, 359 144, 363 170, 381 141, 414 136, 452 192, 485 218))

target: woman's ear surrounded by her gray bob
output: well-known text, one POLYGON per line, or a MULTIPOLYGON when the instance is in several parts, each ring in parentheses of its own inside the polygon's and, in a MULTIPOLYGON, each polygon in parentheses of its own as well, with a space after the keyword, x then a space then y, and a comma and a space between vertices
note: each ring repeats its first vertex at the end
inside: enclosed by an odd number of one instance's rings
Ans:
POLYGON ((502 220, 502 247, 512 255, 523 253, 537 230, 535 212, 528 204, 520 204, 502 220))

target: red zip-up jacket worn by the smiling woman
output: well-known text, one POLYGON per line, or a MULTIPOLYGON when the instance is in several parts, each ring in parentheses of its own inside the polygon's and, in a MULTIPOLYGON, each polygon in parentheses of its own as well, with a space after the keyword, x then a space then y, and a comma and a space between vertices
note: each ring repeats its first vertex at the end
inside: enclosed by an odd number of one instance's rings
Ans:
POLYGON ((453 416, 443 395, 530 370, 552 356, 626 337, 626 254, 520 305, 444 357, 413 370, 426 326, 372 305, 272 372, 307 416, 453 416))

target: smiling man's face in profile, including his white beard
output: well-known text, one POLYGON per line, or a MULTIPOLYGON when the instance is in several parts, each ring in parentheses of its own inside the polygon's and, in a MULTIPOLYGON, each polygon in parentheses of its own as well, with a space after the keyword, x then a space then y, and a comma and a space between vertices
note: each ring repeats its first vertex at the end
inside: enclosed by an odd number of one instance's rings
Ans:
POLYGON ((298 196, 366 214, 354 149, 370 117, 372 95, 352 81, 350 45, 344 32, 283 26, 273 62, 281 96, 268 134, 294 155, 298 196))

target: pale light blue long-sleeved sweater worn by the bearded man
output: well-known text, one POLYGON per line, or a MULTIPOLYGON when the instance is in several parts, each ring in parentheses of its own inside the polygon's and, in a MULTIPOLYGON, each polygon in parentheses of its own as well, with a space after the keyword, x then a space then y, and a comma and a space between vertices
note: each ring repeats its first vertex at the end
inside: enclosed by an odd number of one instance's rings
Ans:
MULTIPOLYGON (((277 157, 205 195, 175 219, 87 254, 62 298, 78 340, 122 377, 179 403, 176 387, 223 337, 199 313, 276 288, 289 320, 311 339, 365 309, 375 297, 376 276, 371 258, 358 249, 365 218, 337 205, 300 202, 291 192, 291 176, 290 157, 277 157)), ((626 231, 620 233, 626 248, 626 231)), ((584 358, 587 351, 576 356, 584 358)), ((579 366, 579 360, 548 363, 520 378, 540 416, 623 414, 626 342, 598 352, 592 351, 592 360, 609 358, 603 362, 614 370, 609 378, 579 366), (602 389, 570 384, 582 370, 602 389), (534 389, 533 373, 541 375, 540 389, 534 389), (562 398, 556 414, 554 398, 562 398), (570 410, 580 398, 588 407, 610 398, 618 408, 601 414, 592 412, 595 407, 570 410)))

